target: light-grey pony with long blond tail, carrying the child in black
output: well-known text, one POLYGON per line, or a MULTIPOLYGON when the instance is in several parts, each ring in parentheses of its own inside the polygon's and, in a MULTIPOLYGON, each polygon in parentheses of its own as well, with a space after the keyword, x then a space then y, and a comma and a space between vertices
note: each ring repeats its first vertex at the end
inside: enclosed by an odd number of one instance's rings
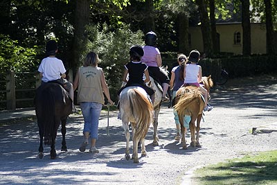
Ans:
POLYGON ((138 143, 141 141, 141 156, 146 156, 144 138, 148 132, 152 121, 153 107, 148 99, 148 95, 141 87, 126 87, 121 91, 120 114, 123 129, 126 137, 125 159, 130 159, 129 155, 129 122, 132 125, 133 155, 134 163, 139 163, 138 143))

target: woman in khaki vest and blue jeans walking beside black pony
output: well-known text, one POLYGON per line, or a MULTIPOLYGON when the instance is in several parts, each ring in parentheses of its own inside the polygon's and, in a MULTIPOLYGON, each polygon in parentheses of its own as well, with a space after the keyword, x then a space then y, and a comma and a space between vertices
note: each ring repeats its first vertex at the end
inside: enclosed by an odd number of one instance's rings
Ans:
POLYGON ((83 66, 76 73, 73 87, 78 87, 77 102, 80 103, 82 115, 84 116, 84 142, 79 150, 84 152, 91 139, 89 152, 98 153, 96 140, 98 139, 99 116, 104 105, 104 95, 112 105, 114 102, 109 96, 109 89, 102 68, 98 67, 98 55, 94 52, 87 54, 83 66))

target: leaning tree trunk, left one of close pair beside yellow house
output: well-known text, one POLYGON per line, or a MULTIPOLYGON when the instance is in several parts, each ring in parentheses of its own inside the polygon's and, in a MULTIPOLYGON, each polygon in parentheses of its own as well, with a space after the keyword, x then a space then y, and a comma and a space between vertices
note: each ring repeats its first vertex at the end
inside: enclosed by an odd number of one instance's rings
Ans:
POLYGON ((211 37, 211 25, 208 19, 208 11, 204 0, 196 0, 201 21, 204 53, 207 57, 213 56, 213 43, 211 37))

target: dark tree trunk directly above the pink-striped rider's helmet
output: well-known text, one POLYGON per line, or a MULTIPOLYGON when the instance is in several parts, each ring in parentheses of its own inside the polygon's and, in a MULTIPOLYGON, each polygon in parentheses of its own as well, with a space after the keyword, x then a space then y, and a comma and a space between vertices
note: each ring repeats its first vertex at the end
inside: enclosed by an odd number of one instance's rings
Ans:
POLYGON ((145 19, 144 19, 144 33, 155 29, 155 14, 153 0, 145 0, 145 19))

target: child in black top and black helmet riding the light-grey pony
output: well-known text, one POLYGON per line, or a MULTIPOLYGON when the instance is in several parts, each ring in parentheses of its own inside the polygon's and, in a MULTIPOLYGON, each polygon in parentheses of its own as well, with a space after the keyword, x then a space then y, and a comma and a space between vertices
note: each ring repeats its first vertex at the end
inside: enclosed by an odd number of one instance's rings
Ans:
POLYGON ((154 90, 145 85, 145 82, 148 82, 150 77, 148 66, 141 62, 141 57, 144 55, 143 48, 139 45, 134 45, 130 48, 129 55, 130 62, 125 64, 125 71, 123 74, 123 82, 127 82, 127 84, 118 91, 118 95, 125 87, 138 86, 145 89, 152 103, 154 103, 154 90), (127 78, 128 73, 129 77, 127 78), (143 79, 143 74, 145 75, 145 80, 143 79))

